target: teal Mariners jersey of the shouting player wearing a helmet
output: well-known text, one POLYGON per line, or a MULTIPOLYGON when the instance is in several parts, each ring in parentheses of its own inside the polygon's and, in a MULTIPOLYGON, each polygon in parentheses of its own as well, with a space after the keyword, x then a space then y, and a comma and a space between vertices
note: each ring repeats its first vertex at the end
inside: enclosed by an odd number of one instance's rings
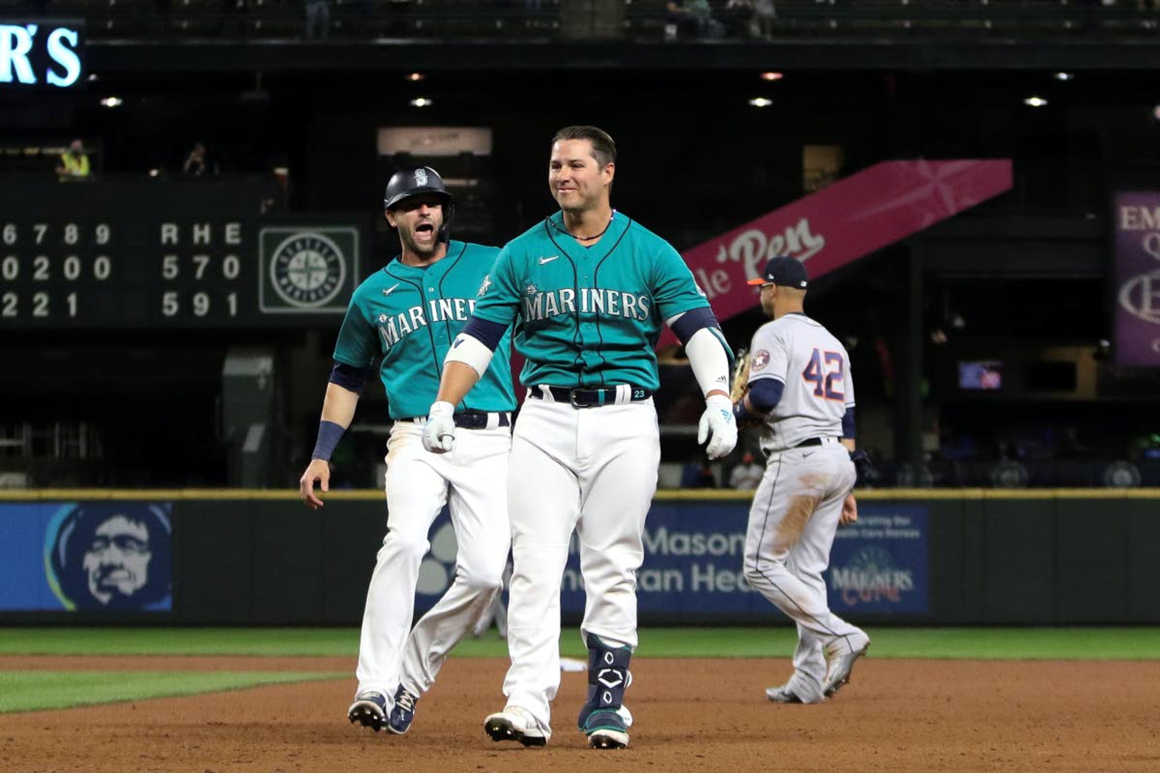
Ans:
MULTIPOLYGON (((426 416, 443 372, 443 358, 466 324, 499 249, 451 241, 447 256, 427 268, 396 260, 367 278, 350 297, 334 359, 379 374, 391 418, 426 416)), ((491 367, 456 410, 514 410, 510 331, 491 367)))

